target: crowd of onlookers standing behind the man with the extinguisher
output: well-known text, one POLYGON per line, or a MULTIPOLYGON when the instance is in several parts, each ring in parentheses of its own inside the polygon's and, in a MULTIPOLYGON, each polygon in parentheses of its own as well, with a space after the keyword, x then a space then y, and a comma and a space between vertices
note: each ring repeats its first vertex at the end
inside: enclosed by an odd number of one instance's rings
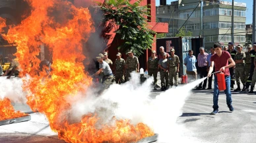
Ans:
MULTIPOLYGON (((210 48, 210 53, 206 53, 203 47, 200 47, 199 51, 200 53, 196 58, 195 55, 193 55, 193 51, 189 50, 189 56, 184 59, 189 82, 197 80, 197 73, 200 78, 207 77, 211 65, 210 59, 216 54, 214 47, 210 48), (198 65, 197 67, 196 63, 198 65)), ((228 43, 228 47, 224 46, 223 51, 227 51, 232 60, 236 63, 236 66, 230 67, 228 71, 230 74, 230 90, 234 90, 234 92, 249 92, 252 94, 256 82, 256 72, 254 72, 256 65, 256 42, 253 43, 253 45, 248 45, 246 52, 243 52, 243 45, 237 45, 235 49, 232 42, 228 43), (234 84, 237 84, 238 88, 234 89, 234 84), (250 85, 251 88, 249 88, 250 85)), ((230 61, 228 61, 228 63, 230 63, 230 61)), ((212 68, 214 72, 215 66, 212 68)), ((208 79, 206 78, 196 88, 197 90, 212 90, 212 76, 208 76, 208 79)))

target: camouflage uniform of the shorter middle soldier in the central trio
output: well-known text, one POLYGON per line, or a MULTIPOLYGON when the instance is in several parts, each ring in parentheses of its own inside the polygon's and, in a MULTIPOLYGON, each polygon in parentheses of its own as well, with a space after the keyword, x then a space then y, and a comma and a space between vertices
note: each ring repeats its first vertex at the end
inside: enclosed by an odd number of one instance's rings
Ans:
MULTIPOLYGON (((160 59, 158 64, 167 70, 167 59, 160 59)), ((168 70, 164 71, 163 69, 160 69, 160 79, 161 79, 162 88, 164 88, 164 87, 166 88, 169 84, 168 70)))

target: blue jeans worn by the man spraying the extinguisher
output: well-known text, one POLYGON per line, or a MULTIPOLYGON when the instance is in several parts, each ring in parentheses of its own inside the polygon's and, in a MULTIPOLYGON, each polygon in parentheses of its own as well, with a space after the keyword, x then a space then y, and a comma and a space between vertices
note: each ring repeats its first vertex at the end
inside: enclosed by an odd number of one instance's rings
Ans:
MULTIPOLYGON (((226 82, 226 90, 224 90, 226 94, 226 103, 228 106, 232 105, 232 97, 230 92, 230 76, 225 76, 226 82)), ((218 90, 218 82, 217 76, 214 75, 214 92, 213 92, 213 109, 218 109, 218 95, 220 94, 220 90, 218 90)))

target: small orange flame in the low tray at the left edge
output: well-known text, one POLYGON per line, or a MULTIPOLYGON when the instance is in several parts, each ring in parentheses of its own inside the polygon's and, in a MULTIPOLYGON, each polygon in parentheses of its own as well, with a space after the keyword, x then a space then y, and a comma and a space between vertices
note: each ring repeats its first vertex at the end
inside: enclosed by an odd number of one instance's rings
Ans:
POLYGON ((15 111, 9 99, 4 98, 3 100, 0 100, 0 121, 24 117, 26 115, 28 114, 21 113, 20 111, 15 111))

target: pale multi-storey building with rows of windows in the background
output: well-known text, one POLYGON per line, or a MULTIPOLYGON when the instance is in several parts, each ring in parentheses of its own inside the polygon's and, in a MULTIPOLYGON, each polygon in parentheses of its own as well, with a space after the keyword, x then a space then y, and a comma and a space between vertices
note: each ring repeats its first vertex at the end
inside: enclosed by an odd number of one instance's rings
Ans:
MULTIPOLYGON (((174 3, 171 3, 174 5, 174 3)), ((177 27, 183 26, 185 30, 191 31, 193 36, 201 36, 205 38, 205 48, 212 47, 214 42, 220 42, 222 45, 227 45, 232 41, 232 3, 227 1, 204 1, 203 11, 201 4, 197 0, 179 0, 177 5, 176 15, 174 19, 177 22, 177 27), (203 14, 203 25, 201 26, 201 12, 203 14), (190 16, 190 17, 189 17, 190 16)), ((163 11, 168 7, 157 7, 156 17, 162 20, 163 11)), ((172 6, 174 7, 174 6, 172 6)), ((165 11, 164 11, 165 12, 165 11)), ((234 43, 245 44, 245 21, 246 21, 246 3, 234 3, 234 43)), ((165 18, 165 17, 164 17, 165 18)), ((175 23, 175 22, 174 22, 175 23)), ((172 23, 169 23, 172 26, 172 23)), ((175 30, 174 25, 174 30, 175 30)), ((169 30, 170 32, 170 30, 169 30)))

